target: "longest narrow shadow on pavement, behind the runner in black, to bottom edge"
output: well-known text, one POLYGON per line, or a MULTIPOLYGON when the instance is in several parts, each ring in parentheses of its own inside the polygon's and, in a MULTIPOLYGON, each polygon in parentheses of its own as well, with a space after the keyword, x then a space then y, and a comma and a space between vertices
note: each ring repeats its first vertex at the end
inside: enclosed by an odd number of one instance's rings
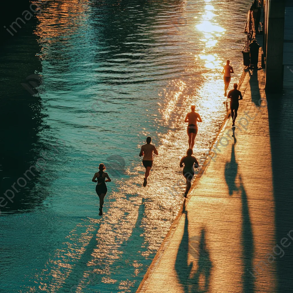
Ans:
POLYGON ((243 293, 253 293, 254 279, 250 272, 253 270, 253 233, 252 225, 249 216, 249 207, 247 201, 247 194, 241 179, 241 175, 238 174, 238 163, 235 157, 235 144, 236 138, 234 138, 234 144, 231 149, 231 160, 225 165, 225 180, 229 188, 229 194, 232 195, 233 191, 240 191, 241 193, 241 207, 242 207, 242 229, 241 229, 241 244, 242 244, 242 260, 244 270, 242 274, 242 286, 243 293), (239 176, 240 185, 236 186, 236 177, 239 176), (230 193, 231 192, 231 193, 230 193))

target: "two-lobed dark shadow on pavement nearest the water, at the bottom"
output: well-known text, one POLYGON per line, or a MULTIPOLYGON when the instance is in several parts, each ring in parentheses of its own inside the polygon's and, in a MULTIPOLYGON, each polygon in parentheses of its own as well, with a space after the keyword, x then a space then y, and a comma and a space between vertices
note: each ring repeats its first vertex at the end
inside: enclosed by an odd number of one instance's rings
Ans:
POLYGON ((193 238, 197 236, 189 238, 188 212, 185 211, 184 232, 177 252, 175 270, 185 293, 208 292, 212 262, 206 245, 205 229, 201 229, 198 247, 191 247, 193 243, 190 243, 190 239, 193 238), (195 261, 197 260, 197 270, 194 272, 192 271, 194 262, 188 265, 188 252, 195 261), (204 285, 199 282, 200 276, 205 280, 204 285))

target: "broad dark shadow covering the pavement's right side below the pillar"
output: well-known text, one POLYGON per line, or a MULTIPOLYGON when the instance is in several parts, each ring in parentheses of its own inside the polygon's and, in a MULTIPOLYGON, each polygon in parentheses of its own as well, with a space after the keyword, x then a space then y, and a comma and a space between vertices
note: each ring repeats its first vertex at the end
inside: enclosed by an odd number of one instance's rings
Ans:
MULTIPOLYGON (((276 244, 293 229, 293 100, 292 89, 280 94, 266 93, 272 158, 272 180, 275 202, 276 244)), ((291 232, 292 235, 292 232, 291 232)), ((288 238, 289 239, 289 238, 288 238)), ((289 239, 289 241, 291 241, 289 239)), ((281 246, 282 247, 282 246, 281 246)), ((275 260, 277 291, 292 292, 293 247, 282 247, 285 255, 275 260)))

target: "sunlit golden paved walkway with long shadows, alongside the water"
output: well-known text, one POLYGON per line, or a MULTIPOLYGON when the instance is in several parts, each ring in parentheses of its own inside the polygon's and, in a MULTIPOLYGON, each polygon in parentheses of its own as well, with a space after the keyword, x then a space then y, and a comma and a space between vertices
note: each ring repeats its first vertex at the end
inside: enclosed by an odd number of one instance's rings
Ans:
POLYGON ((138 293, 292 292, 292 87, 264 88, 246 74, 236 136, 230 117, 138 293))

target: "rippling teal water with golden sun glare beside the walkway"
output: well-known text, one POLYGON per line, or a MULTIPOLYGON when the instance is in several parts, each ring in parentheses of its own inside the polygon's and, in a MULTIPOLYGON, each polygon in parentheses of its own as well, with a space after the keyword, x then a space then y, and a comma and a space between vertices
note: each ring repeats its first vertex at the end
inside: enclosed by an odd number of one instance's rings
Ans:
POLYGON ((6 149, 13 157, 20 147, 29 159, 4 160, 14 170, 4 191, 40 157, 42 169, 1 208, 5 292, 136 291, 183 202, 190 105, 203 120, 194 147, 200 164, 226 115, 222 65, 231 60, 231 84, 238 82, 250 2, 43 7, 33 35, 43 84, 17 110, 25 106, 22 115, 35 122, 14 152, 6 149), (148 135, 159 156, 143 188, 138 154, 148 135), (91 182, 99 163, 112 178, 101 218, 91 182))

